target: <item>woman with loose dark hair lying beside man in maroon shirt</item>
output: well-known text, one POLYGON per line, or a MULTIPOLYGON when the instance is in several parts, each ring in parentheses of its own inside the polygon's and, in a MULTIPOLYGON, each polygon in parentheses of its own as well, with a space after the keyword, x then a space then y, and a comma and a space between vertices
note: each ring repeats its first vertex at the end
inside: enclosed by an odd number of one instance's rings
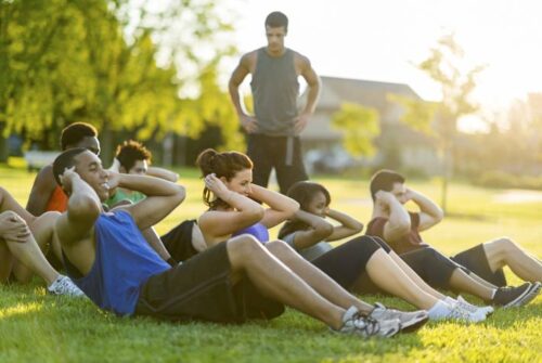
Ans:
POLYGON ((333 248, 330 242, 360 233, 363 224, 332 209, 330 192, 322 184, 297 182, 287 196, 299 203, 300 209, 281 228, 279 238, 323 271, 328 270, 330 275, 336 275, 337 281, 350 275, 348 287, 354 293, 389 293, 427 310, 434 320, 455 317, 478 322, 493 312, 491 307, 476 307, 435 290, 378 237, 359 236, 333 248))

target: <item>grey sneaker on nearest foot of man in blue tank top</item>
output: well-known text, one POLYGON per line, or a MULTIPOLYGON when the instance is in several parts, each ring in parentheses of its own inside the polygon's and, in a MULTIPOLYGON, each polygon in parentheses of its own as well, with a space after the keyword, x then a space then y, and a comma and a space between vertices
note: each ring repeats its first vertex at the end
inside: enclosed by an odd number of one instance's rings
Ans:
POLYGON ((350 307, 343 315, 343 326, 336 330, 343 334, 356 334, 363 338, 386 337, 396 335, 401 329, 399 320, 377 322, 360 314, 358 308, 350 307))

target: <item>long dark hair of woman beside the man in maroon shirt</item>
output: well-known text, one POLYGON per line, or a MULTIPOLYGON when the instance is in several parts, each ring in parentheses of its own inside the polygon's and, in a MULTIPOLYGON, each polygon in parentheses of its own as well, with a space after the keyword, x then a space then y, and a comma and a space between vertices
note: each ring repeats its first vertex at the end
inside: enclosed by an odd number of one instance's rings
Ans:
MULTIPOLYGON (((295 183, 289 187, 287 196, 299 203, 299 209, 308 211, 309 204, 319 192, 324 194, 325 205, 328 206, 332 203, 330 192, 322 184, 311 181, 300 181, 295 183)), ((287 221, 279 231, 279 238, 283 238, 297 231, 305 231, 308 228, 309 224, 302 221, 287 221)))

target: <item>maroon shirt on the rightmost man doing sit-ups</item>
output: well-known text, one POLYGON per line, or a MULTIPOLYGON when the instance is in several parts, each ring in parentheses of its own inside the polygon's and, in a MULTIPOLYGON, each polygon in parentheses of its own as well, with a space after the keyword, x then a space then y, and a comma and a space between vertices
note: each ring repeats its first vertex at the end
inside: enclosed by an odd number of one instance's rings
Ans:
POLYGON ((384 238, 384 225, 388 221, 388 218, 384 217, 377 217, 369 222, 365 234, 383 238, 398 255, 427 247, 428 245, 422 239, 420 232, 417 232, 417 228, 420 226, 420 213, 409 212, 409 216, 410 232, 399 239, 390 242, 384 238))

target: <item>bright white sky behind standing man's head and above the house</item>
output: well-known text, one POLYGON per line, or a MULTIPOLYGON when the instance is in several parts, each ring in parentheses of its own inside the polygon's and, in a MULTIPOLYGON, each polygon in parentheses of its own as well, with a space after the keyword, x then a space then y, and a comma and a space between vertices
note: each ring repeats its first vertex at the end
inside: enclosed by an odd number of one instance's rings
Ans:
MULTIPOLYGON (((235 0, 241 53, 266 44, 263 21, 289 18, 286 47, 322 76, 410 85, 438 100, 438 87, 412 63, 453 31, 469 64, 486 64, 474 98, 486 109, 542 91, 542 1, 535 0, 235 0)), ((231 67, 235 66, 235 63, 231 67)))

